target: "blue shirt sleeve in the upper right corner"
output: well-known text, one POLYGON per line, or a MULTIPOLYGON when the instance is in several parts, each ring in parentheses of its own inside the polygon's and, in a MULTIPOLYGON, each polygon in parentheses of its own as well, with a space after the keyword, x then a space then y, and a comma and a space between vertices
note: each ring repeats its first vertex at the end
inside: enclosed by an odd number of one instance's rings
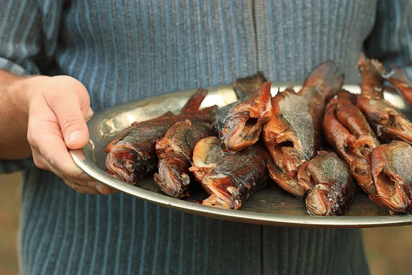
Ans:
POLYGON ((396 63, 412 80, 412 1, 378 0, 376 21, 365 53, 384 65, 396 63))

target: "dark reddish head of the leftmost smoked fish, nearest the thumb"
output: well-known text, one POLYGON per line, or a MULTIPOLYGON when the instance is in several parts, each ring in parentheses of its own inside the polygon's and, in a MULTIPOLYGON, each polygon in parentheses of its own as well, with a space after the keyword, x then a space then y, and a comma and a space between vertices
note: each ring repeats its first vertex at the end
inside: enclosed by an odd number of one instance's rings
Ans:
POLYGON ((118 148, 110 151, 106 157, 106 167, 108 174, 129 184, 135 184, 139 176, 146 172, 144 159, 132 148, 118 148))

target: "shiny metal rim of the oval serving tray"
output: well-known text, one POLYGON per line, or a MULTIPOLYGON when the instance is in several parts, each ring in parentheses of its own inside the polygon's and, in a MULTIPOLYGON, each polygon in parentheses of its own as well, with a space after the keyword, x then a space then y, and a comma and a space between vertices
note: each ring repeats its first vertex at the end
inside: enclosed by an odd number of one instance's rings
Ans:
MULTIPOLYGON (((278 86, 301 86, 302 83, 290 82, 290 83, 272 83, 272 89, 277 89, 278 86)), ((353 86, 359 87, 357 84, 346 84, 345 87, 353 86)), ((209 91, 224 91, 231 92, 234 94, 233 88, 231 86, 218 86, 218 87, 206 87, 209 91)), ((127 107, 133 106, 137 103, 148 102, 156 99, 161 99, 170 96, 179 96, 179 94, 187 94, 189 92, 194 92, 196 89, 175 91, 166 94, 161 94, 158 96, 152 96, 147 98, 141 98, 138 100, 132 100, 125 102, 123 104, 117 104, 115 107, 106 108, 93 115, 92 120, 104 120, 105 114, 108 111, 121 111, 122 109, 128 109, 127 107)), ((89 125, 88 122, 88 125, 89 125)), ((144 199, 151 203, 156 203, 159 206, 164 206, 166 208, 172 208, 174 210, 179 210, 181 212, 186 212, 190 214, 198 214, 200 216, 223 219, 227 221, 237 221, 242 223, 255 223, 260 225, 280 225, 280 226, 290 226, 290 227, 306 227, 306 228, 374 228, 374 227, 389 227, 389 226, 400 226, 400 225, 412 225, 412 215, 387 215, 387 216, 341 216, 341 217, 319 217, 312 215, 293 215, 293 214, 269 214, 262 212, 251 212, 245 210, 229 210, 221 209, 213 206, 203 206, 190 201, 184 201, 181 199, 174 199, 165 195, 157 194, 156 192, 151 192, 145 190, 144 188, 139 188, 139 186, 132 186, 126 184, 119 179, 115 179, 110 175, 106 174, 97 165, 91 162, 84 154, 84 148, 72 150, 69 149, 69 153, 73 158, 73 161, 84 170, 85 173, 89 174, 93 179, 110 186, 120 192, 124 192, 127 195, 132 195, 139 199, 144 199)), ((291 198, 293 199, 293 198, 291 198)))

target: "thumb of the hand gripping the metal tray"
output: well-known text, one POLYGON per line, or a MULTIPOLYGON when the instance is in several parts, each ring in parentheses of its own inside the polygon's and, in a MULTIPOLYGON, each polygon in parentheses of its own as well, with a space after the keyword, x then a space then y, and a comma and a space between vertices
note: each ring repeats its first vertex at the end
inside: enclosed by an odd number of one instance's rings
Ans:
POLYGON ((85 117, 91 116, 93 111, 89 106, 89 94, 86 88, 80 87, 80 89, 84 91, 53 93, 51 98, 46 98, 50 109, 56 114, 65 144, 71 149, 83 148, 89 141, 89 129, 85 117), (84 104, 85 102, 87 104, 84 104))

